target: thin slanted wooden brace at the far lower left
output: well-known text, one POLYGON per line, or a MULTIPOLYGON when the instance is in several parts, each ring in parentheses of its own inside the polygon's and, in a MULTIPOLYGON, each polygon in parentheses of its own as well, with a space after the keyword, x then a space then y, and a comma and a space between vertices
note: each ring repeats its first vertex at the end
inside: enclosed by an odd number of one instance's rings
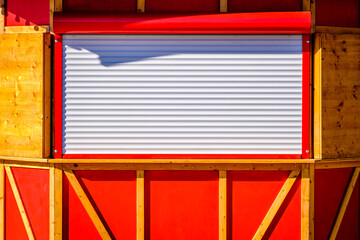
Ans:
POLYGON ((28 236, 29 240, 35 240, 34 233, 33 233, 33 230, 31 229, 31 225, 29 222, 29 218, 26 214, 24 204, 23 204, 21 196, 20 196, 20 192, 17 188, 16 182, 14 179, 14 175, 9 166, 5 166, 5 170, 6 170, 6 174, 8 176, 9 182, 10 182, 11 189, 12 189, 14 197, 15 197, 16 204, 19 208, 21 219, 24 223, 27 236, 28 236))

